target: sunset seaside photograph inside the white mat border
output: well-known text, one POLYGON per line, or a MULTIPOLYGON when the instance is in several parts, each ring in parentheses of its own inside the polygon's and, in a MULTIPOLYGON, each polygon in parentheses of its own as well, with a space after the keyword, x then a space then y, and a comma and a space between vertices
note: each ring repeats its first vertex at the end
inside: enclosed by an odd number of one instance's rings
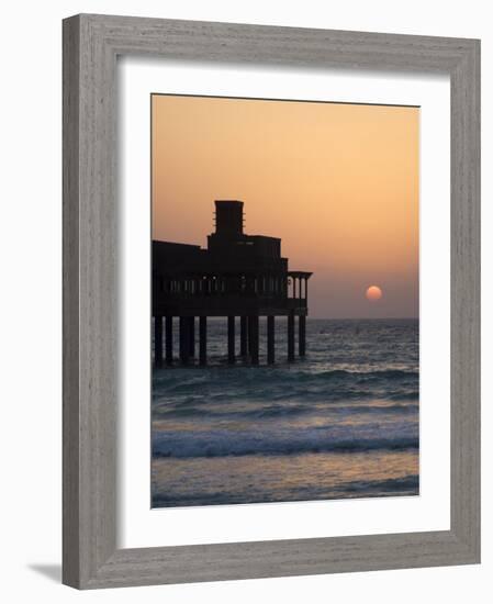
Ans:
POLYGON ((150 506, 419 495, 419 107, 150 108, 150 506))

